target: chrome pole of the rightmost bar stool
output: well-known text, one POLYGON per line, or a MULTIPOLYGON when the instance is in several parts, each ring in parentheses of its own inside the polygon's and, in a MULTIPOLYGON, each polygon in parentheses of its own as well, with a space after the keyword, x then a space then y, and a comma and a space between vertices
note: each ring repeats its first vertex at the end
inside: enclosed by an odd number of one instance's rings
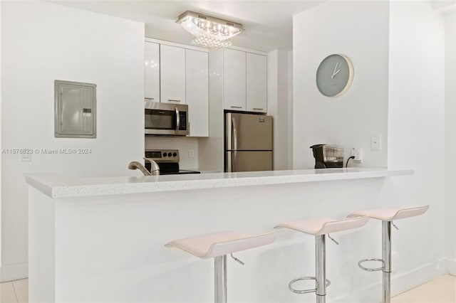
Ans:
POLYGON ((383 303, 391 302, 391 221, 382 221, 383 303))

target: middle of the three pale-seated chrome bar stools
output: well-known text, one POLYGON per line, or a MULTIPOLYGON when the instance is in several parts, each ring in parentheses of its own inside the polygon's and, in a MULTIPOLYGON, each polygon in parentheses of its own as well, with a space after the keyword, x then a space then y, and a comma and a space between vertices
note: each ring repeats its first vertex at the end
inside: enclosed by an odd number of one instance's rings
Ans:
POLYGON ((335 233, 342 230, 349 230, 353 228, 359 228, 366 225, 368 222, 367 217, 356 217, 343 220, 336 220, 332 218, 315 218, 304 221, 294 221, 289 223, 281 223, 274 228, 290 228, 297 230, 302 233, 308 233, 309 235, 315 236, 315 277, 297 277, 289 282, 289 289, 295 294, 308 294, 310 292, 316 293, 316 302, 326 302, 326 287, 331 284, 331 281, 326 279, 326 243, 325 235, 333 240, 336 244, 336 240, 331 238, 329 233, 335 233), (315 289, 294 289, 292 287, 294 282, 299 280, 315 280, 315 289))

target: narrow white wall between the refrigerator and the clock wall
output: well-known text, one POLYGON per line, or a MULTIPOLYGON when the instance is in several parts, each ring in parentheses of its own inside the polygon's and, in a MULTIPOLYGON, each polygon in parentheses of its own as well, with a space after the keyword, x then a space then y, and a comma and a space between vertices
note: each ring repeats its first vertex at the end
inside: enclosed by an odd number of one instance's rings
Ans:
POLYGON ((291 169, 289 151, 289 52, 272 50, 268 53, 268 115, 274 117, 274 170, 291 169))

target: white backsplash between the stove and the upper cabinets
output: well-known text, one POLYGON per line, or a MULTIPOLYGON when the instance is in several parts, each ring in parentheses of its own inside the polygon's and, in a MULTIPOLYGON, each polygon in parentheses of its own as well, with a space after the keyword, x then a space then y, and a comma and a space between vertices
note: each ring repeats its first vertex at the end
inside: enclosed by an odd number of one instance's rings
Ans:
POLYGON ((179 149, 180 169, 198 169, 198 138, 192 137, 145 137, 145 149, 179 149), (190 150, 193 157, 190 158, 190 150))

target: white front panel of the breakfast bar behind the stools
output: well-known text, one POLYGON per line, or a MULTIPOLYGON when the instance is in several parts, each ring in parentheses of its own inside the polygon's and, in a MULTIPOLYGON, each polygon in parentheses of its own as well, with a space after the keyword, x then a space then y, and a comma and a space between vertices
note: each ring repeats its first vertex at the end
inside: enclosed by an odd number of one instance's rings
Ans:
MULTIPOLYGON (((359 209, 382 207, 403 194, 392 182, 375 178, 57 198, 56 302, 211 302, 214 262, 165 248, 167 242, 222 230, 264 233, 278 223, 319 216, 343 218, 359 209)), ((409 201, 400 203, 407 206, 409 201)), ((427 218, 409 219, 406 225, 413 234, 420 233, 427 218)), ((407 230, 401 238, 410 240, 396 248, 422 248, 407 230)), ((377 277, 356 265, 381 251, 378 225, 333 236, 341 245, 328 245, 328 275, 334 281, 328 298, 380 300, 381 292, 371 289, 378 286, 377 277), (366 288, 370 290, 361 292, 366 288)), ((294 277, 313 275, 313 255, 313 237, 279 230, 272 245, 235 254, 246 265, 228 262, 229 300, 301 302, 286 285, 294 277)), ((419 274, 415 270, 425 260, 406 263, 406 272, 400 273, 409 277, 419 274)), ((29 283, 37 287, 43 281, 29 283)))

